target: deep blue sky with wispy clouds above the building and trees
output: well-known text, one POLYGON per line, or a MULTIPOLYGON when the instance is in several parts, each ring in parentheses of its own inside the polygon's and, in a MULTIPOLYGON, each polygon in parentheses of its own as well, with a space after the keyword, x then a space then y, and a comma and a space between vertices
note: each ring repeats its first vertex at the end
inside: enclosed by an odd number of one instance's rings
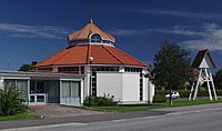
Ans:
POLYGON ((93 21, 115 47, 152 64, 163 40, 191 52, 209 48, 222 68, 221 0, 0 0, 0 70, 18 70, 68 46, 67 36, 93 21))

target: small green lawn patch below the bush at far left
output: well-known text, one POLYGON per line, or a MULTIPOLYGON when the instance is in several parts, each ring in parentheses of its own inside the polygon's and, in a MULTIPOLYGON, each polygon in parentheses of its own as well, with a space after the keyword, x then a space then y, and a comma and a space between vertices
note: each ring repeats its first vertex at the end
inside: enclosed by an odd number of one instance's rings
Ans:
POLYGON ((16 115, 7 115, 7 117, 0 115, 0 121, 9 121, 9 120, 37 120, 37 119, 40 119, 40 115, 31 112, 30 110, 27 110, 26 112, 22 112, 22 113, 18 113, 16 115))

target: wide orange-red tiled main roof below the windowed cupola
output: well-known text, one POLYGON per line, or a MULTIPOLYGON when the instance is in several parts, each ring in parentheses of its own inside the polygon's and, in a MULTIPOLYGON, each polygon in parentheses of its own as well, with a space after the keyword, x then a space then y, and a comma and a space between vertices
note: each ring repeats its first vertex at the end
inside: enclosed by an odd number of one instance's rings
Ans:
POLYGON ((77 44, 47 58, 34 67, 89 64, 89 57, 93 57, 92 64, 125 64, 148 67, 145 63, 105 44, 77 44))

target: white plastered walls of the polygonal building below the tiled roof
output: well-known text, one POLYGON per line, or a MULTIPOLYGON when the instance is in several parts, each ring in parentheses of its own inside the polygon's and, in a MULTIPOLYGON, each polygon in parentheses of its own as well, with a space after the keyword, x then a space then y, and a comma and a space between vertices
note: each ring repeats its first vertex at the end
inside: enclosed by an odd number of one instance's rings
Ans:
MULTIPOLYGON (((84 98, 89 95, 89 67, 85 68, 85 72, 88 75, 84 80, 84 98)), ((97 95, 102 97, 104 93, 114 95, 114 100, 121 103, 152 102, 154 85, 143 75, 143 100, 140 101, 140 72, 98 71, 97 95)))

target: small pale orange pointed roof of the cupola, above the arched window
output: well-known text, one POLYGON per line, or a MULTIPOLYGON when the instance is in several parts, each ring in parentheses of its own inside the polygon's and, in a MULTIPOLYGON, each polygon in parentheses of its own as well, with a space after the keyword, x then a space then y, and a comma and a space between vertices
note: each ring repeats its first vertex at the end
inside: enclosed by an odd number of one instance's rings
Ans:
POLYGON ((68 41, 72 40, 81 40, 81 39, 90 39, 91 34, 98 33, 102 37, 103 40, 110 40, 112 42, 115 42, 114 37, 103 32, 101 29, 99 29, 93 22, 92 19, 90 19, 89 23, 84 26, 82 29, 73 32, 72 34, 68 36, 68 41))

